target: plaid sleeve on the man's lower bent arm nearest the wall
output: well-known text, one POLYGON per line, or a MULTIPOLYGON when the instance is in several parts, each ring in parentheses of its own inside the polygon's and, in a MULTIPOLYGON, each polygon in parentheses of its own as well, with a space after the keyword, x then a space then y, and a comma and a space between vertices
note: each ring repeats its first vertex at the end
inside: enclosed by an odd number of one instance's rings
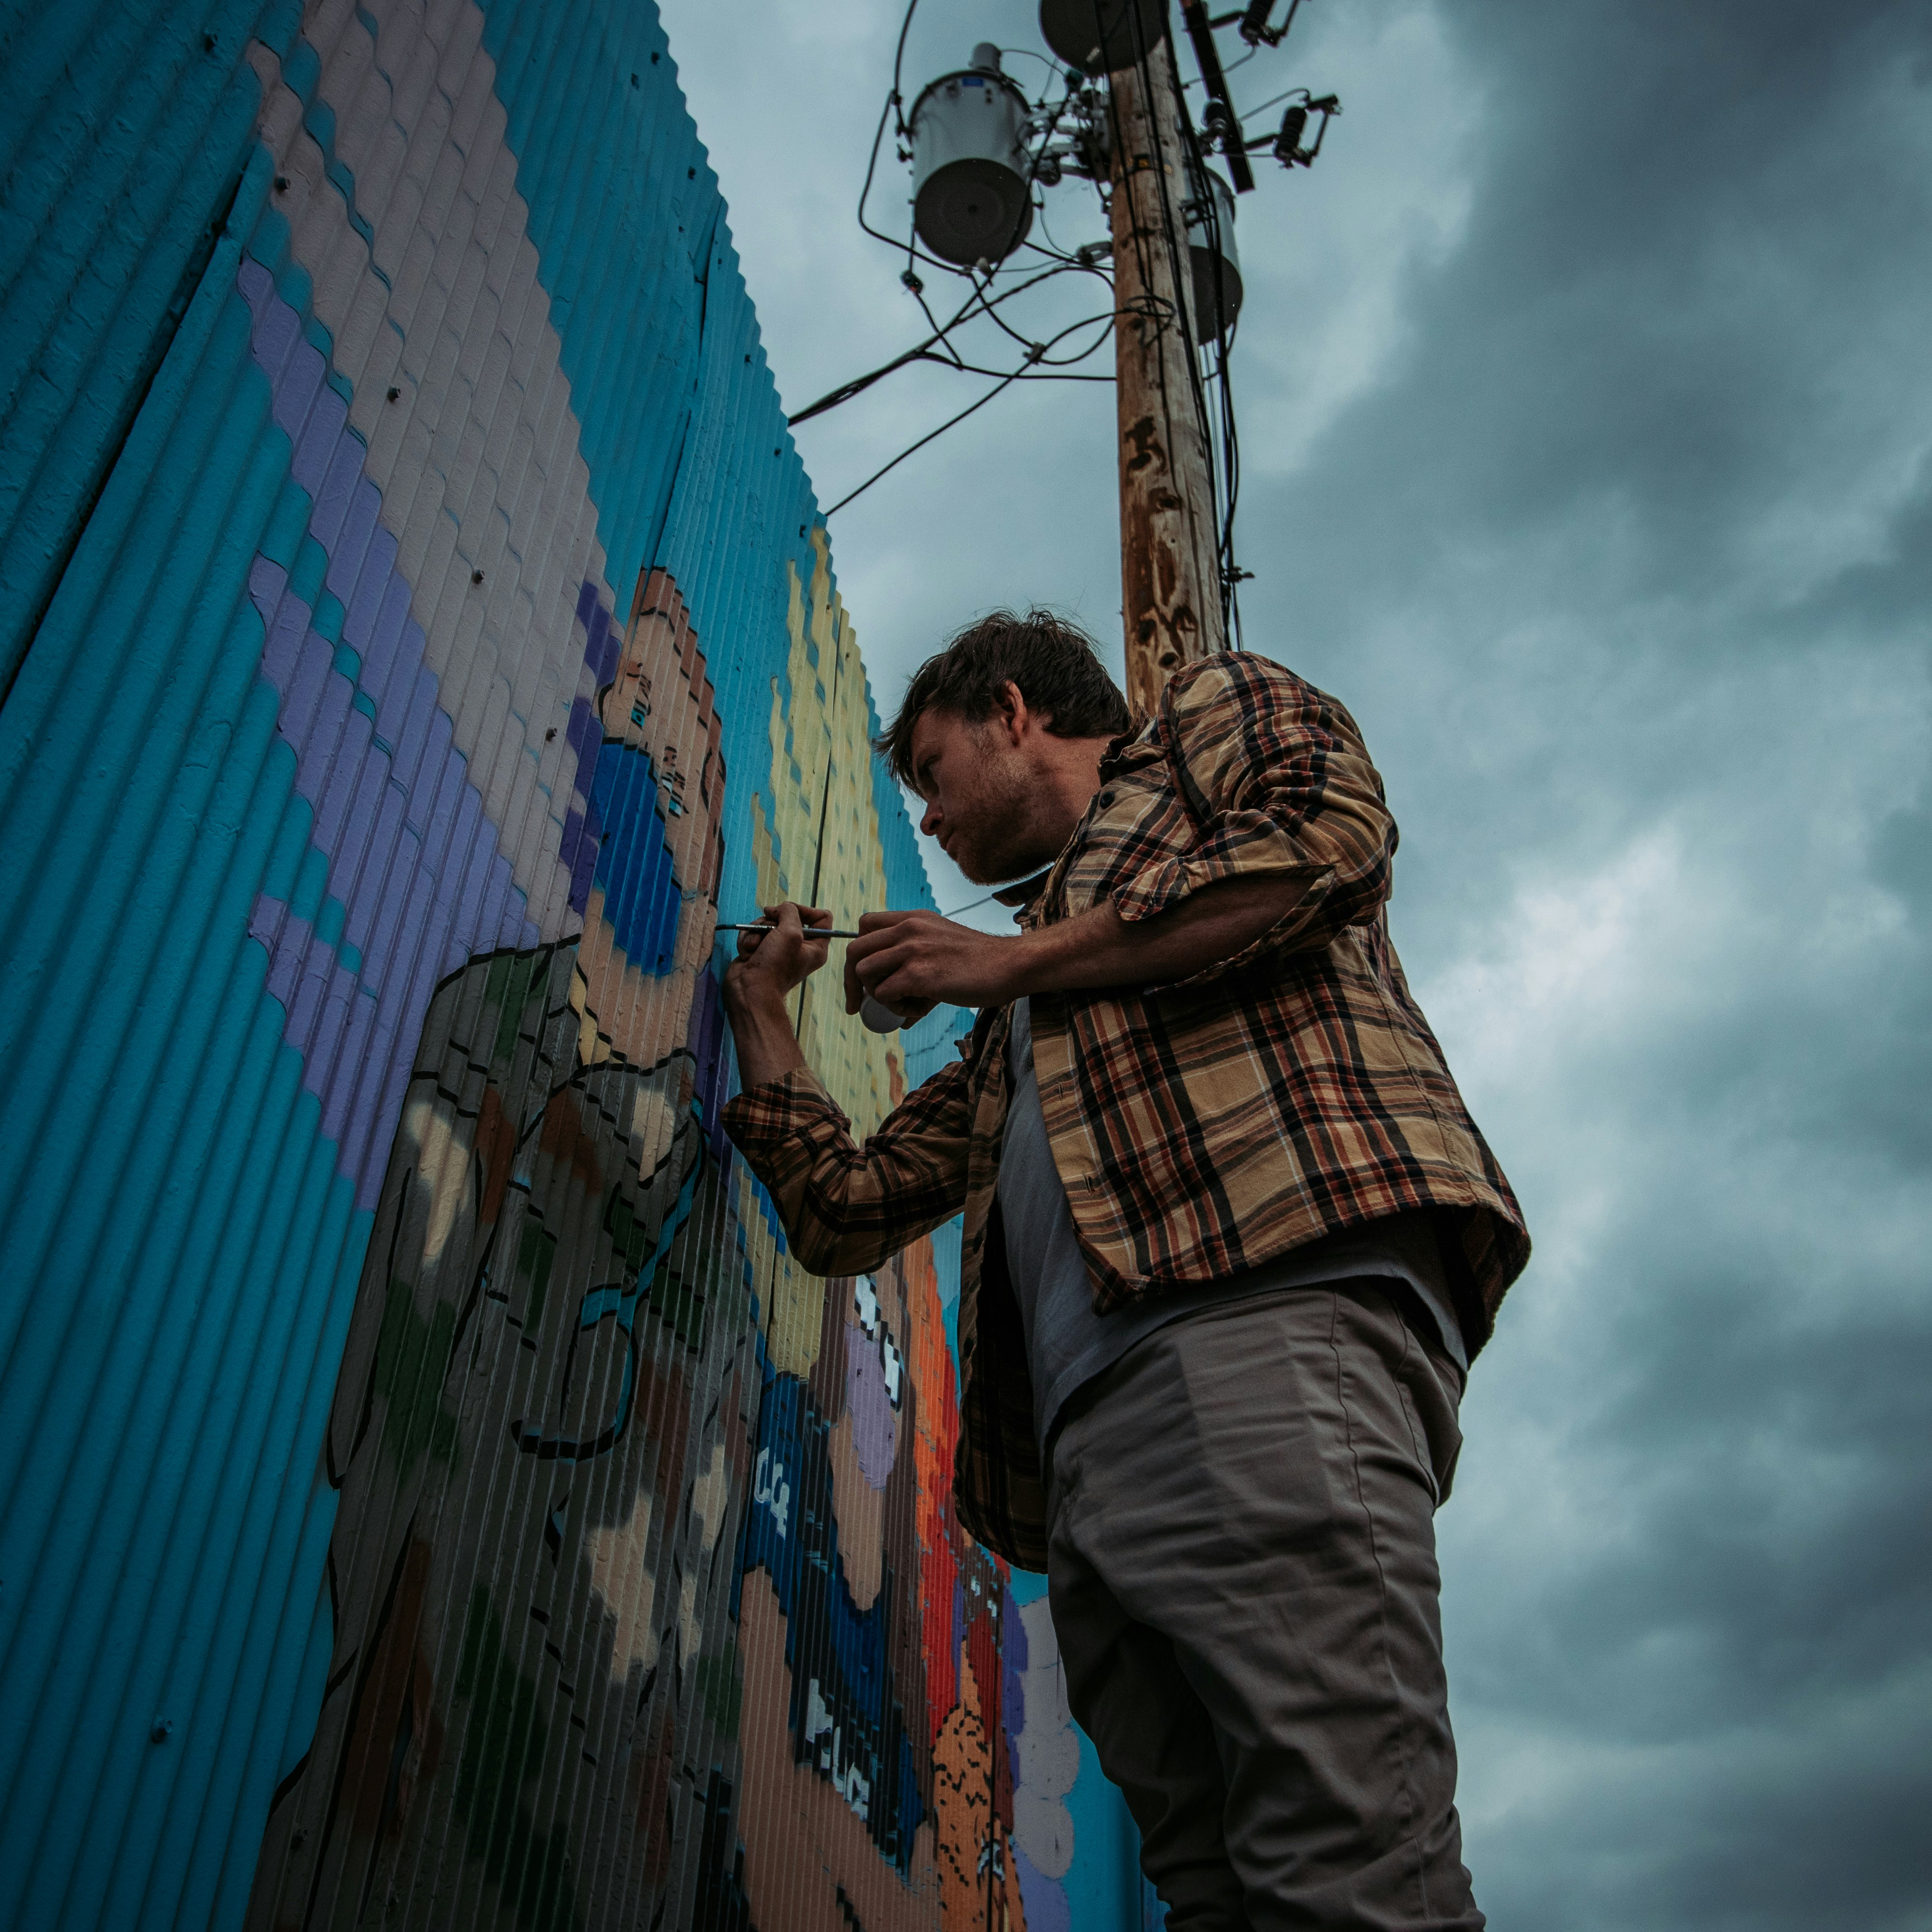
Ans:
POLYGON ((860 1146, 813 1072, 790 1072, 724 1107, 746 1165, 765 1182, 798 1264, 860 1275, 949 1221, 966 1204, 972 1066, 943 1066, 860 1146))

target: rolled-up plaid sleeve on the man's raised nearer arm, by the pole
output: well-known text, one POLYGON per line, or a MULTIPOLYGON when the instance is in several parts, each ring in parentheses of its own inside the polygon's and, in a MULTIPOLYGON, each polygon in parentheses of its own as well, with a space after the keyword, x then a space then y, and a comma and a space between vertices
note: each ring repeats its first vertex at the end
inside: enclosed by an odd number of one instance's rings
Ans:
POLYGON ((1225 653, 1169 682, 1157 730, 1196 837, 1115 889, 1121 918, 1150 920, 1223 879, 1302 883, 1260 939, 1180 983, 1329 947, 1376 916, 1397 831, 1343 705, 1265 657, 1225 653))

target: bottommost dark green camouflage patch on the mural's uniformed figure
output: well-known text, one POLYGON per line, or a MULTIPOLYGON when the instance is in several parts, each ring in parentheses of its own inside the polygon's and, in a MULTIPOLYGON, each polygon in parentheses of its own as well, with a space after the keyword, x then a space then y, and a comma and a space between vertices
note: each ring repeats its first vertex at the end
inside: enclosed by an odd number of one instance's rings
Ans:
POLYGON ((489 1590, 469 1592, 456 1694, 469 1698, 469 1723, 456 1764, 456 1816, 464 1847, 529 1932, 578 1932, 583 1915, 570 1888, 564 1828, 539 1832, 524 1808, 524 1785, 543 1770, 549 1731, 537 1718, 537 1687, 520 1677, 502 1648, 489 1590))

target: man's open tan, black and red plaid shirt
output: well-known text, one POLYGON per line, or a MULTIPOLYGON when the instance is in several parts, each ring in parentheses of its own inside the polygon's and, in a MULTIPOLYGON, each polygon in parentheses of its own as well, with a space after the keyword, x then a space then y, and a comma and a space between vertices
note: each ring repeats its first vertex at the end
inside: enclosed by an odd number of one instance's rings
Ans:
MULTIPOLYGON (((1111 900, 1153 918, 1219 879, 1302 881, 1235 956, 1169 985, 1036 993, 1034 1068, 1099 1312, 1256 1267, 1408 1208, 1437 1209, 1470 1356, 1530 1240, 1389 945, 1395 821, 1354 719, 1252 653, 1186 665, 1119 740, 1032 929, 1111 900)), ((1045 1567, 1045 1488, 995 1182, 1010 1010, 864 1148, 808 1072, 724 1124, 804 1267, 864 1273, 964 1211, 960 1520, 1045 1567), (991 1236, 991 1238, 989 1238, 991 1236)))

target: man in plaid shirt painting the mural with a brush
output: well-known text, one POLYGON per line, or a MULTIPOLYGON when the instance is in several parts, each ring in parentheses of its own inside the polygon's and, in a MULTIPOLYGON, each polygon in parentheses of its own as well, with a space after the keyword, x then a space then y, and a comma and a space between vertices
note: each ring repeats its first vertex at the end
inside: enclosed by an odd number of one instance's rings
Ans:
POLYGON ((879 748, 1022 933, 860 922, 848 1010, 980 1016, 858 1148, 784 1009, 827 916, 775 908, 732 1138, 827 1275, 964 1211, 958 1515, 1047 1571, 1169 1926, 1482 1926, 1434 1509, 1528 1236, 1389 945, 1354 721, 1223 655, 1128 730, 1078 632, 997 612, 879 748))

